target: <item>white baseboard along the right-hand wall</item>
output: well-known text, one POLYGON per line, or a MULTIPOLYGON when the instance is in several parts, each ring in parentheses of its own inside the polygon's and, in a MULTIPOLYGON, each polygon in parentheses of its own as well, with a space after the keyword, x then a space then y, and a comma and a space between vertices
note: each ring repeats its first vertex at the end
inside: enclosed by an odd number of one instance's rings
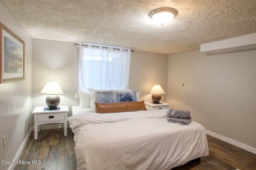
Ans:
POLYGON ((245 144, 240 143, 238 141, 234 141, 233 139, 229 139, 227 137, 224 137, 222 135, 219 135, 217 133, 214 133, 214 132, 211 132, 211 131, 208 131, 208 130, 206 130, 206 133, 208 135, 212 136, 212 137, 216 137, 217 139, 220 139, 220 140, 222 140, 224 142, 230 143, 230 144, 235 145, 235 146, 237 146, 239 148, 242 148, 244 150, 247 150, 249 152, 252 152, 252 153, 256 154, 256 148, 250 147, 248 145, 245 145, 245 144))

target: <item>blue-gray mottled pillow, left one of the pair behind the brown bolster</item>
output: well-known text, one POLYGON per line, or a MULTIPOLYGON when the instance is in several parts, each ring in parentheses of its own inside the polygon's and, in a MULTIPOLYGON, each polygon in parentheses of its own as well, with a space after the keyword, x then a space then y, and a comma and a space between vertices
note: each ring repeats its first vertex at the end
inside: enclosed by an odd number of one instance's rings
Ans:
POLYGON ((95 91, 95 102, 97 103, 115 103, 116 91, 95 91))

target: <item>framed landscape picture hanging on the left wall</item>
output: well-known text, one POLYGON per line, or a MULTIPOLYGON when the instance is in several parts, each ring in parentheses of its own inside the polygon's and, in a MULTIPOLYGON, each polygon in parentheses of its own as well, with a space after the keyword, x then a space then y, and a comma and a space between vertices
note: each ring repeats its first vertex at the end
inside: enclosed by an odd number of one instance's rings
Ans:
POLYGON ((0 83, 25 79, 25 42, 0 23, 0 83))

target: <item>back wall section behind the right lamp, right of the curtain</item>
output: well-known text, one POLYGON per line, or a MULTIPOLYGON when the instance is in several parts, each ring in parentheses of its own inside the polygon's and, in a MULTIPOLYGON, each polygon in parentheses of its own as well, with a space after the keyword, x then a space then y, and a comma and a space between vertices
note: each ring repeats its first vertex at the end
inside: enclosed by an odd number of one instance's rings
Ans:
MULTIPOLYGON (((154 84, 167 93, 168 55, 134 51, 131 53, 129 88, 140 92, 140 100, 152 101, 148 94, 154 84)), ((166 102, 166 94, 162 94, 166 102)))

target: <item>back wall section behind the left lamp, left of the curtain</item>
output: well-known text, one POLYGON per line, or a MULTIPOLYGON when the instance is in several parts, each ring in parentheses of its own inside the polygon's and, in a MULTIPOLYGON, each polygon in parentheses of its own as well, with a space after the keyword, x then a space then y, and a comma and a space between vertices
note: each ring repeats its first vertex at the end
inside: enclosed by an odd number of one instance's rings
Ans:
MULTIPOLYGON (((57 81, 64 94, 60 105, 79 105, 74 98, 78 89, 78 48, 74 43, 33 39, 32 108, 46 106, 47 95, 40 94, 48 81, 57 81)), ((68 116, 71 115, 68 113, 68 116)))

